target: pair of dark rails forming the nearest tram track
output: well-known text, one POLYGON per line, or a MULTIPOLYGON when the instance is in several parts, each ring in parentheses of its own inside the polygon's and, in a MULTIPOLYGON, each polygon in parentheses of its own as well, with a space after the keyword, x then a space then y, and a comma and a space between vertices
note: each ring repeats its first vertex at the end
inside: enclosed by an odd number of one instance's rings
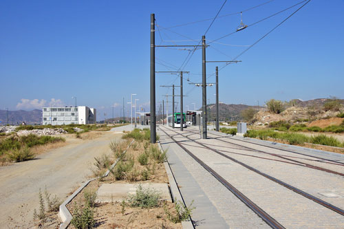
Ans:
MULTIPOLYGON (((167 129, 168 131, 173 131, 173 130, 171 130, 171 129, 168 129, 168 128, 166 128, 166 127, 164 127, 165 129, 167 129)), ((166 135, 169 135, 168 133, 166 133, 166 131, 164 131, 161 127, 160 127, 160 129, 166 134, 166 135)), ((178 132, 176 132, 176 131, 173 131, 174 133, 178 133, 178 132)), ((182 135, 182 133, 178 133, 178 135, 182 135)), ((175 135, 174 135, 175 136, 175 135)), ((209 146, 207 146, 206 144, 204 144, 204 143, 201 143, 201 142, 197 142, 197 141, 195 141, 195 140, 193 140, 193 139, 191 139, 191 138, 189 138, 189 137, 185 137, 184 135, 182 135, 182 137, 184 137, 184 138, 186 138, 186 139, 188 139, 189 141, 191 141, 191 142, 195 142, 195 143, 197 143, 198 145, 200 145, 200 146, 202 146, 203 148, 205 148, 205 149, 208 149, 208 150, 210 150, 210 151, 213 151, 213 152, 215 152, 215 153, 217 153, 217 154, 219 154, 219 155, 222 155, 223 157, 226 157, 228 160, 231 160, 231 161, 233 161, 233 162, 235 162, 235 163, 237 163, 237 164, 240 164, 241 166, 244 166, 245 168, 248 168, 250 171, 253 171, 253 172, 255 172, 255 173, 257 173, 257 174, 259 174, 259 175, 261 175, 261 176, 263 176, 263 177, 266 177, 267 179, 270 179, 272 182, 275 182, 275 183, 277 183, 277 184, 279 184, 279 185, 281 185, 281 186, 284 186, 284 187, 286 187, 286 188, 288 188, 288 189, 290 189, 290 190, 292 190, 292 191, 294 191, 294 193, 297 193, 297 194, 299 194, 299 195, 302 195, 303 197, 306 197, 306 198, 308 198, 308 199, 311 199, 312 201, 314 201, 314 202, 316 202, 317 204, 320 204, 321 206, 324 206, 325 208, 328 208, 328 209, 330 209, 330 210, 333 210, 334 212, 336 212, 336 213, 338 213, 339 215, 343 215, 344 216, 344 210, 343 209, 341 209, 341 208, 338 208, 338 207, 336 207, 336 206, 334 206, 334 205, 332 205, 332 204, 330 204, 330 203, 327 203, 326 201, 323 201, 322 199, 319 199, 319 198, 317 198, 317 197, 314 197, 313 195, 310 195, 309 193, 306 193, 305 191, 303 191, 303 190, 301 190, 301 189, 299 189, 299 188, 296 188, 296 187, 294 187, 294 186, 291 186, 290 184, 287 184, 286 182, 282 182, 281 180, 279 180, 279 179, 277 179, 277 178, 275 178, 275 177, 272 177, 272 176, 270 176, 270 175, 268 175, 268 174, 266 174, 266 173, 263 173, 263 172, 261 172, 261 171, 259 171, 259 170, 257 170, 256 168, 253 168, 252 166, 249 166, 248 164, 245 164, 244 162, 240 162, 239 160, 236 160, 235 158, 233 158, 233 157, 230 157, 230 156, 228 156, 228 155, 226 155, 226 154, 224 154, 224 153, 222 153, 222 152, 220 152, 220 151, 218 151, 218 150, 216 150, 216 149, 213 149, 213 148, 211 148, 211 147, 209 147, 209 146)), ((184 151, 186 151, 186 153, 188 153, 189 155, 191 155, 191 157, 193 157, 198 163, 200 163, 204 168, 206 168, 206 170, 209 172, 209 173, 211 173, 215 178, 217 178, 215 175, 218 175, 217 173, 215 173, 215 171, 213 171, 213 169, 211 169, 209 166, 207 166, 204 162, 202 162, 202 160, 200 160, 198 157, 196 157, 195 155, 193 155, 193 153, 191 153, 191 151, 189 151, 188 149, 186 149, 186 147, 184 146, 184 144, 185 144, 185 141, 183 141, 183 142, 180 142, 180 141, 177 141, 177 140, 175 140, 175 138, 173 137, 172 138, 172 140, 175 142, 175 143, 177 143, 182 149, 184 149, 184 151)), ((227 142, 227 143, 230 143, 230 142, 227 142)), ((217 178, 220 182, 222 182, 222 179, 224 179, 224 178, 222 178, 222 177, 220 177, 220 178, 217 178)), ((222 183, 223 184, 223 183, 222 183)), ((225 185, 226 186, 226 185, 225 185)), ((229 189, 229 188, 228 188, 229 189)), ((229 189, 233 194, 235 194, 236 196, 238 195, 238 194, 236 194, 235 193, 235 190, 234 190, 234 192, 233 192, 233 190, 231 190, 231 189, 229 189)), ((239 191, 238 191, 239 192, 239 191)), ((241 193, 242 194, 242 193, 241 193)), ((239 198, 239 197, 238 197, 239 198)), ((239 199, 241 199, 241 198, 239 198, 239 199)), ((242 200, 241 200, 242 201, 242 200)), ((245 203, 245 201, 243 201, 244 203, 245 203)), ((245 203, 246 204, 246 203, 245 203)), ((248 206, 248 204, 246 204, 247 206, 248 206)), ((249 206, 250 207, 250 206, 249 206)), ((251 207, 250 207, 251 208, 251 207)), ((252 208, 251 208, 252 209, 252 208)), ((253 209, 252 209, 253 210, 253 209)), ((260 209, 259 210, 253 210, 254 212, 260 212, 260 209)), ((257 213, 257 215, 259 215, 258 213, 257 213)), ((264 219, 264 215, 263 216, 261 216, 261 215, 259 215, 259 217, 261 217, 261 219, 263 219, 264 221, 266 221, 267 222, 267 220, 265 220, 264 219)), ((268 222, 267 222, 268 223, 268 222)), ((278 222, 277 222, 278 223, 278 222)), ((268 223, 269 224, 269 223, 268 223)), ((270 224, 269 224, 270 225, 270 224)), ((271 226, 271 225, 270 225, 271 226)), ((276 225, 275 225, 276 226, 276 225)), ((272 225, 272 227, 274 227, 273 225, 272 225)))

